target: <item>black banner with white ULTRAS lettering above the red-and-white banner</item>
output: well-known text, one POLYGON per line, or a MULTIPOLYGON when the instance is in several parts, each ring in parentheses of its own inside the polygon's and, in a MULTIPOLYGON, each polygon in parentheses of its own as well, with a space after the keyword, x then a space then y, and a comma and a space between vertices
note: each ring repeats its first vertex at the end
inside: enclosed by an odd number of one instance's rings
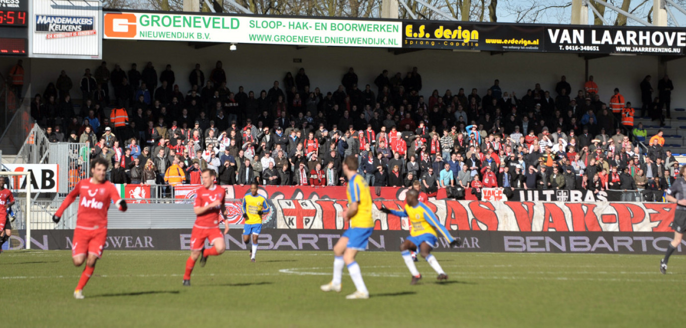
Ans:
POLYGON ((528 202, 621 202, 624 191, 603 190, 595 194, 588 190, 514 189, 510 200, 528 202))

